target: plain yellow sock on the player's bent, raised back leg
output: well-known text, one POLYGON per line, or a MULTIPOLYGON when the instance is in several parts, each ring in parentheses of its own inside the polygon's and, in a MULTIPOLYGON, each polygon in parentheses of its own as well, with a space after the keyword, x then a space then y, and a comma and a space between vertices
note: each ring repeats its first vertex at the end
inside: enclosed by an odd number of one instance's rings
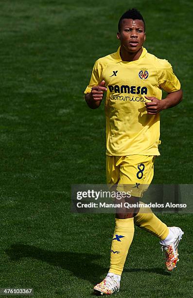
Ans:
MULTIPOLYGON (((140 202, 140 204, 144 203, 140 202)), ((162 223, 148 207, 140 207, 139 213, 134 216, 134 223, 140 228, 158 236, 160 240, 166 239, 169 234, 167 225, 162 223)))

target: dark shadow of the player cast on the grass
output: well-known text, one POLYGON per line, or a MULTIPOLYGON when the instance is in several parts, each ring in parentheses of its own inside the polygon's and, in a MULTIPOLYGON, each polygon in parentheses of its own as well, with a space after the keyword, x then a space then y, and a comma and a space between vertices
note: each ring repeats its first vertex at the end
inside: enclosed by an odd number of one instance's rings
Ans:
MULTIPOLYGON (((37 248, 33 245, 12 244, 5 250, 11 261, 19 261, 22 258, 45 261, 53 266, 57 266, 73 273, 74 276, 90 281, 92 284, 99 282, 99 278, 105 277, 108 268, 97 264, 101 259, 98 254, 77 253, 70 251, 49 251, 37 248)), ((162 268, 134 268, 124 269, 124 272, 149 272, 160 275, 170 275, 162 268)))

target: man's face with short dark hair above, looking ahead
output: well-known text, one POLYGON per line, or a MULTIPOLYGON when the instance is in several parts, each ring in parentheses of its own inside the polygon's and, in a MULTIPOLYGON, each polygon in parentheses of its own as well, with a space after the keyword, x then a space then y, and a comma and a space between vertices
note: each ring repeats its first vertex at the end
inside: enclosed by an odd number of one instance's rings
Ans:
POLYGON ((117 33, 121 46, 129 53, 138 52, 145 41, 144 23, 141 19, 123 19, 117 33))

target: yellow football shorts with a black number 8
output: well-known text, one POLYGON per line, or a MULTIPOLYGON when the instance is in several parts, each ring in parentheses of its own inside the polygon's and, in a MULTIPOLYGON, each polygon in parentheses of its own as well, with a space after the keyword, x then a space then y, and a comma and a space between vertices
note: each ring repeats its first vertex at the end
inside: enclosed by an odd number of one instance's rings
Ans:
POLYGON ((131 195, 142 197, 154 176, 153 155, 106 155, 106 182, 118 191, 132 190, 131 195))

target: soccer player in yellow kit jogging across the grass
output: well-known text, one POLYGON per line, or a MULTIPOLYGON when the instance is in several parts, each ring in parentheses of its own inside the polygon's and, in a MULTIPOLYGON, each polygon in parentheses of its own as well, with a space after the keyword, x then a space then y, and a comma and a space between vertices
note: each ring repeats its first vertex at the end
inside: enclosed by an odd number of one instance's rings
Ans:
MULTIPOLYGON (((182 100, 180 82, 171 64, 143 48, 145 22, 134 8, 126 11, 118 24, 120 47, 116 53, 99 58, 85 90, 91 109, 99 108, 106 92, 106 180, 123 191, 133 187, 129 202, 139 202, 154 174, 159 141, 159 112, 182 100), (162 91, 167 96, 161 100, 162 91)), ((123 192, 122 192, 123 193, 123 192)), ((144 208, 117 211, 111 245, 110 269, 94 287, 100 294, 120 289, 124 262, 134 235, 134 223, 158 237, 169 271, 178 261, 177 246, 183 235, 179 227, 168 227, 144 208), (146 213, 145 213, 146 212, 146 213)))

